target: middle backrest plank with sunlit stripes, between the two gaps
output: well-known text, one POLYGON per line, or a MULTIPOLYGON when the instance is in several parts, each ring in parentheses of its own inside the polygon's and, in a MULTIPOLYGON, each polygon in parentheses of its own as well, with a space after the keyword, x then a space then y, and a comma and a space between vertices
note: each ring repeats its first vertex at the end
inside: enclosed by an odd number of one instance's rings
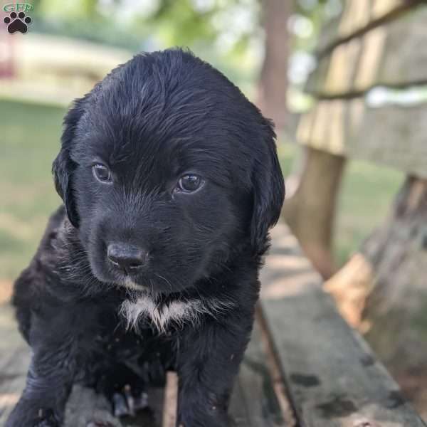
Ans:
POLYGON ((320 59, 305 90, 319 98, 363 94, 377 85, 427 83, 427 6, 352 38, 320 59))

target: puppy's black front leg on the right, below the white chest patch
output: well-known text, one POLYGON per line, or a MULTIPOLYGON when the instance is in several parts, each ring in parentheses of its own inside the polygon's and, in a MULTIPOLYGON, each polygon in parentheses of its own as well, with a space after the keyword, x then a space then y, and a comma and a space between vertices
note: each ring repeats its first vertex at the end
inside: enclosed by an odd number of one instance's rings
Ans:
POLYGON ((179 427, 228 426, 228 401, 248 344, 253 314, 211 321, 179 344, 179 427))

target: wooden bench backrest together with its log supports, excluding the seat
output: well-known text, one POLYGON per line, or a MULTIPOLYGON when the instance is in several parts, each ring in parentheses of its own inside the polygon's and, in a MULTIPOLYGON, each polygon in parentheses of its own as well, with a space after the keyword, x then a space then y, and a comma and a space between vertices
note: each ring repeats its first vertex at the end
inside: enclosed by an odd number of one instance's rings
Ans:
MULTIPOLYGON (((364 333, 427 420, 427 2, 342 4, 321 31, 305 86, 312 107, 296 138, 305 162, 283 218, 339 312, 364 333), (354 160, 401 172, 402 185, 389 213, 337 270, 334 218, 340 182, 354 160)), ((359 205, 369 201, 376 209, 369 188, 367 194, 359 205)))

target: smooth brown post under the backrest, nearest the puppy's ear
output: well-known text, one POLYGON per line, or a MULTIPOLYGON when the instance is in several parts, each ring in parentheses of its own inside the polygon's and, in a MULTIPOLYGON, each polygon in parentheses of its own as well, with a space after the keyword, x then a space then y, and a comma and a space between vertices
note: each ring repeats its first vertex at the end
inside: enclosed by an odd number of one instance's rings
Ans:
POLYGON ((310 147, 306 150, 300 185, 285 201, 283 217, 315 268, 323 278, 330 278, 335 271, 335 205, 345 159, 310 147))

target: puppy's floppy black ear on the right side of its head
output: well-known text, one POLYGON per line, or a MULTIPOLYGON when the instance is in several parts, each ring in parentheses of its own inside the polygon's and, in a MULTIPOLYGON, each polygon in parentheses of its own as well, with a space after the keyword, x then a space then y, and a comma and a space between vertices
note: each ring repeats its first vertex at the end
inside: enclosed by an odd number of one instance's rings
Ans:
POLYGON ((273 122, 263 119, 263 142, 252 170, 253 214, 251 241, 263 253, 268 229, 277 223, 285 199, 285 183, 275 147, 273 122))

